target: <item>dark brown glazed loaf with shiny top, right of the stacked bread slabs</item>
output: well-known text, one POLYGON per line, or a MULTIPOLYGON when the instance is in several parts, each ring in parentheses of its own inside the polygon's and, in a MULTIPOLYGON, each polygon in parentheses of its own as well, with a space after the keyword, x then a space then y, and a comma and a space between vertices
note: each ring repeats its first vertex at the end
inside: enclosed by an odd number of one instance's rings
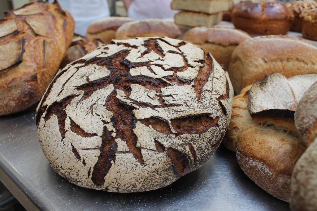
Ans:
POLYGON ((280 1, 243 1, 233 6, 231 21, 250 34, 287 34, 294 15, 280 1))

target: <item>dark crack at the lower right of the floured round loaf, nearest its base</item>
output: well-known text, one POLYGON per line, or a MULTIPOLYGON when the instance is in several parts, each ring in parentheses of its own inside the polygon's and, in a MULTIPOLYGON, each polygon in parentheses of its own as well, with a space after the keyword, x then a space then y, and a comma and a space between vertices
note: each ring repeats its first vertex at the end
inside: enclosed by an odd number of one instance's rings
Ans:
POLYGON ((166 151, 173 164, 174 174, 179 177, 185 175, 189 166, 187 155, 172 147, 167 147, 166 151))

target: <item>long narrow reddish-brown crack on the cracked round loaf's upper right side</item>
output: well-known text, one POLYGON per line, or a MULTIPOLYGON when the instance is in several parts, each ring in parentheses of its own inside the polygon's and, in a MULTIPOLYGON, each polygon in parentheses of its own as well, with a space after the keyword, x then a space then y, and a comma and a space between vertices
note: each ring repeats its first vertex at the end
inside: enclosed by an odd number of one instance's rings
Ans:
POLYGON ((200 68, 198 75, 194 81, 197 100, 199 101, 204 85, 208 81, 210 74, 214 72, 214 64, 209 54, 205 57, 205 65, 200 68))

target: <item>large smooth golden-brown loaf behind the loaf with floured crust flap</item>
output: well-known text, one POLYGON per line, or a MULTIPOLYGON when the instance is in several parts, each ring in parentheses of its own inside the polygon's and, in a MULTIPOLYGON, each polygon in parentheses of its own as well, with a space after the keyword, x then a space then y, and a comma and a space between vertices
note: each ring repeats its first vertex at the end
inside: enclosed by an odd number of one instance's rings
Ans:
POLYGON ((317 72, 317 48, 294 37, 272 35, 243 41, 232 53, 228 68, 236 93, 272 72, 287 78, 317 72))

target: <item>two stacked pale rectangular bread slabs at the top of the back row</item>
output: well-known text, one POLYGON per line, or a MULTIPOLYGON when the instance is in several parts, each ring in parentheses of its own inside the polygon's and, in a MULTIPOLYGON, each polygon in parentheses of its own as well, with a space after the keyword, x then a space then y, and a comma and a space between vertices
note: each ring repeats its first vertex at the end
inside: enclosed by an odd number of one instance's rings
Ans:
POLYGON ((232 0, 173 0, 171 8, 182 10, 174 16, 176 24, 197 27, 217 24, 232 5, 232 0))

